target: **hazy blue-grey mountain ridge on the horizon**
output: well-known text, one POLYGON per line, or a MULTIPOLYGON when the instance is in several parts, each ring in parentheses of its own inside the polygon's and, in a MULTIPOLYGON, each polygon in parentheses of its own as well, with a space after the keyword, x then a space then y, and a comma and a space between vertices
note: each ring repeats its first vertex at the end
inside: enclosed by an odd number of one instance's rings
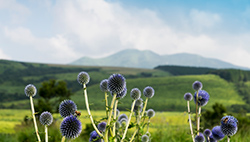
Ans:
POLYGON ((232 68, 249 70, 249 68, 236 66, 218 59, 205 58, 195 54, 178 53, 172 55, 159 55, 150 50, 126 49, 103 58, 82 57, 71 62, 72 65, 87 66, 117 66, 134 68, 154 68, 159 65, 176 65, 208 68, 232 68))

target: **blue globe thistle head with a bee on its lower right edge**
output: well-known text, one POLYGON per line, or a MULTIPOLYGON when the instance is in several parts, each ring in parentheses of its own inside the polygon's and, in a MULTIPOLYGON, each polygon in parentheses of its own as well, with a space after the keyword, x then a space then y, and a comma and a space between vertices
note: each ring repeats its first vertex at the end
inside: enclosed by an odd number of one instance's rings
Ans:
POLYGON ((64 100, 59 106, 59 113, 62 117, 74 115, 77 110, 76 104, 71 100, 64 100))

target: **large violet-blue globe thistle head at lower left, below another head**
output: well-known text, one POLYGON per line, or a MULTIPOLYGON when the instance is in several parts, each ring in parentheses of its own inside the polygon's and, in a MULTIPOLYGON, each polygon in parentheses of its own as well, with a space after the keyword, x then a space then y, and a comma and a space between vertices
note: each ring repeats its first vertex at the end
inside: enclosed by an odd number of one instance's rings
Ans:
POLYGON ((60 130, 61 130, 62 136, 72 139, 80 135, 82 131, 82 125, 76 116, 71 115, 63 119, 60 130))

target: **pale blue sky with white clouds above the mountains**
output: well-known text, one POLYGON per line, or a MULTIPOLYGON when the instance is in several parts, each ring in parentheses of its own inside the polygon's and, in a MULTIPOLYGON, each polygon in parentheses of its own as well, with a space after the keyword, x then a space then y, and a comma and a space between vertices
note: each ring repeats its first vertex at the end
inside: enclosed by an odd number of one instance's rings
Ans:
POLYGON ((0 59, 66 64, 128 48, 250 67, 250 1, 0 0, 0 59))

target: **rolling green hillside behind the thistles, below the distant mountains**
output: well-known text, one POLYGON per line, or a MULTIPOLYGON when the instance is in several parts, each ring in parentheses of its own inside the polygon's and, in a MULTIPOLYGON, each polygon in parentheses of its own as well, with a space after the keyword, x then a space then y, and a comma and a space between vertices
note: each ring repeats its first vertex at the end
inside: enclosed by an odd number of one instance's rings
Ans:
MULTIPOLYGON (((81 85, 76 81, 80 71, 89 73, 91 79, 87 85, 91 109, 104 109, 104 94, 99 89, 101 80, 108 78, 113 73, 121 73, 127 81, 127 96, 120 100, 120 110, 130 109, 131 98, 129 92, 132 88, 141 91, 146 86, 155 89, 155 96, 149 100, 147 108, 157 111, 185 111, 186 102, 183 95, 186 92, 194 93, 192 83, 199 80, 203 83, 211 98, 205 109, 211 108, 215 102, 222 103, 226 107, 235 104, 245 104, 231 82, 217 75, 182 75, 171 76, 170 73, 157 69, 137 69, 120 67, 90 67, 73 65, 35 64, 0 60, 0 107, 29 108, 29 99, 24 95, 24 87, 34 84, 38 89, 43 81, 49 79, 64 80, 67 82, 74 95, 72 100, 79 109, 84 109, 84 97, 81 85)), ((35 97, 38 97, 38 95, 35 97)), ((109 97, 111 100, 111 97, 109 97)), ((145 99, 144 96, 142 96, 145 99)), ((191 103, 194 108, 194 103, 191 103)))

